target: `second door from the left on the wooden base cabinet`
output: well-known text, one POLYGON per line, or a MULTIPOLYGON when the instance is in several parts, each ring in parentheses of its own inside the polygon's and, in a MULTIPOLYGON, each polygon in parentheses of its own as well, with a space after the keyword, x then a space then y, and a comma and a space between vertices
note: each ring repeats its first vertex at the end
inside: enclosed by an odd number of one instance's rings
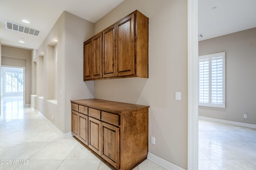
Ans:
POLYGON ((88 146, 88 116, 79 113, 79 135, 78 139, 88 146))

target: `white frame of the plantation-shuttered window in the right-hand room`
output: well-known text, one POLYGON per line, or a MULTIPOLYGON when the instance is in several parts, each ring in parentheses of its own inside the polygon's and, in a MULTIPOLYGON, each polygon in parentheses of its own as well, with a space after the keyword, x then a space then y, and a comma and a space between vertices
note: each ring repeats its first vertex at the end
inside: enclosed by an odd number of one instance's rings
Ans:
MULTIPOLYGON (((226 53, 221 52, 221 53, 214 53, 214 54, 209 54, 209 55, 202 55, 198 56, 198 106, 208 106, 208 107, 221 107, 225 108, 226 107, 226 53), (213 103, 212 102, 212 59, 216 57, 222 57, 222 104, 213 103), (207 60, 209 61, 209 76, 208 76, 208 102, 200 102, 200 61, 202 60, 207 60)), ((201 88, 202 89, 202 88, 201 88)), ((202 95, 201 95, 202 96, 202 95)), ((204 94, 203 94, 204 98, 204 94)))

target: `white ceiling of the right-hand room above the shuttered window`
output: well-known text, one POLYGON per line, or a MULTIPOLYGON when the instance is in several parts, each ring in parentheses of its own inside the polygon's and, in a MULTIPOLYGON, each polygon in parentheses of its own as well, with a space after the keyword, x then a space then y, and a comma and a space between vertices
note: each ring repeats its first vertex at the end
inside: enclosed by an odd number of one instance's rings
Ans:
POLYGON ((255 8, 256 0, 198 0, 198 40, 256 27, 255 8))

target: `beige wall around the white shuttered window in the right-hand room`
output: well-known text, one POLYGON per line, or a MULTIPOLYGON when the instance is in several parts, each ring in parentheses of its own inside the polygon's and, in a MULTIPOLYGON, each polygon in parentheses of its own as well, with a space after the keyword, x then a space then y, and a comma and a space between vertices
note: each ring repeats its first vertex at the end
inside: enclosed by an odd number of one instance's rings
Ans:
POLYGON ((199 56, 226 52, 226 108, 200 106, 199 116, 256 124, 256 28, 199 41, 198 45, 199 56))

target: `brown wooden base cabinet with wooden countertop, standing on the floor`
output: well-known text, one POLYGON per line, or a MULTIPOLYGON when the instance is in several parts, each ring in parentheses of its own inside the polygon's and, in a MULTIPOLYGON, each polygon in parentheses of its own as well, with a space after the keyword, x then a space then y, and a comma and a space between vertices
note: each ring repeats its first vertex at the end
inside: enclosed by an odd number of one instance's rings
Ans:
POLYGON ((71 100, 72 134, 83 143, 88 141, 86 145, 116 169, 135 168, 148 154, 148 107, 99 99, 71 100))

